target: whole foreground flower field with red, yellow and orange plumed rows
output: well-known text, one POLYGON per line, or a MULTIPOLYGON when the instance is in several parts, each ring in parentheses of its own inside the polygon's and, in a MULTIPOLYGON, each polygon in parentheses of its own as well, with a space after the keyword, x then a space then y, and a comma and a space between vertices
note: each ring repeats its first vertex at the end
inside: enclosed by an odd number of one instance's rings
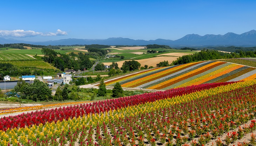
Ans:
POLYGON ((4 117, 0 145, 254 144, 255 90, 208 83, 4 117))

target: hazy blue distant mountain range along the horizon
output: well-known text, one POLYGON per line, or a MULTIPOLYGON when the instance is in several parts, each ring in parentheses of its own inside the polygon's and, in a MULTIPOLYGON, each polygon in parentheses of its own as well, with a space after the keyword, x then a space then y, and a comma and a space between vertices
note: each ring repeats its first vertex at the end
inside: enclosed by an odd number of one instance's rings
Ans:
POLYGON ((90 44, 101 44, 101 45, 148 45, 148 44, 159 44, 159 45, 196 45, 196 46, 207 46, 207 45, 235 45, 235 46, 256 46, 256 30, 244 32, 241 35, 233 32, 228 32, 225 35, 204 35, 200 36, 197 34, 186 35, 175 41, 169 39, 156 39, 145 41, 142 39, 129 39, 129 38, 108 38, 108 39, 60 39, 56 41, 46 42, 28 42, 19 41, 15 39, 5 39, 0 37, 0 44, 11 44, 11 43, 27 43, 35 45, 90 45, 90 44))

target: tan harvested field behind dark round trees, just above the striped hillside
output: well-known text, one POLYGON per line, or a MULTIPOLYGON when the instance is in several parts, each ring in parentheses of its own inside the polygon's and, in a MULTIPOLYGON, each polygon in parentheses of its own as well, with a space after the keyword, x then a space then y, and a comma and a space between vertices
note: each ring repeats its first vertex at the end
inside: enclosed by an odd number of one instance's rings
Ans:
MULTIPOLYGON (((135 60, 138 61, 141 66, 148 65, 148 66, 154 66, 156 67, 156 64, 162 62, 162 61, 168 61, 169 64, 171 64, 174 60, 177 60, 177 57, 168 57, 168 56, 161 56, 161 57, 154 57, 154 58, 147 58, 147 59, 139 59, 135 60)), ((118 61, 116 62, 119 67, 121 67, 124 63, 124 61, 129 61, 129 60, 123 60, 123 61, 118 61)), ((111 65, 112 63, 103 63, 104 65, 111 65)))

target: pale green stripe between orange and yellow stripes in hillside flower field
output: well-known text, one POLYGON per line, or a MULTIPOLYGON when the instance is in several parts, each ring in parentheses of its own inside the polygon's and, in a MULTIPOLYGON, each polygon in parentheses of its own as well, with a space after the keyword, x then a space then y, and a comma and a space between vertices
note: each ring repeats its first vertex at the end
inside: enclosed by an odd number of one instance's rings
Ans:
POLYGON ((173 84, 173 85, 171 85, 171 86, 168 86, 168 87, 166 87, 166 88, 163 88, 162 90, 175 88, 175 87, 177 87, 177 86, 182 85, 183 83, 189 82, 189 81, 194 80, 194 79, 196 79, 196 78, 201 78, 201 76, 203 76, 203 75, 210 74, 211 72, 214 72, 214 71, 216 71, 216 70, 219 70, 219 69, 221 69, 221 68, 223 68, 223 67, 225 67, 225 66, 228 66, 228 65, 230 65, 230 64, 231 64, 231 63, 225 63, 225 64, 222 64, 222 65, 216 66, 216 67, 214 67, 214 68, 212 68, 212 69, 210 69, 210 70, 207 70, 207 71, 205 71, 205 72, 202 72, 202 73, 200 73, 200 74, 197 74, 197 75, 195 75, 195 76, 192 76, 192 77, 190 77, 190 78, 188 78, 188 79, 185 79, 185 80, 182 80, 182 81, 180 81, 180 82, 177 82, 177 83, 175 83, 175 84, 173 84))

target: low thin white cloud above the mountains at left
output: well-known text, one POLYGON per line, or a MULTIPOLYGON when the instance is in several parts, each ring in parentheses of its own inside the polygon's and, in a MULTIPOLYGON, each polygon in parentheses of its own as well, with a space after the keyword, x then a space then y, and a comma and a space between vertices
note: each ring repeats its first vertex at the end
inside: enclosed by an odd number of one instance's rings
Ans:
POLYGON ((60 29, 57 32, 35 32, 32 30, 0 30, 0 36, 2 37, 34 37, 34 36, 63 36, 68 35, 66 31, 61 31, 60 29))

